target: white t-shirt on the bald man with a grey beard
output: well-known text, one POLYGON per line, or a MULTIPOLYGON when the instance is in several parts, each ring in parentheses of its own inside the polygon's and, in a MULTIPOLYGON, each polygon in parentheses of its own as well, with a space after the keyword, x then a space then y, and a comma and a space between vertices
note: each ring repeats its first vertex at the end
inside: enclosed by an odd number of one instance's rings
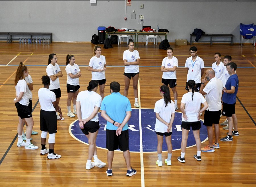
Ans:
POLYGON ((205 99, 208 103, 208 108, 206 110, 209 111, 219 111, 221 110, 221 94, 222 94, 223 86, 222 81, 217 77, 212 78, 203 91, 207 93, 205 95, 205 99))

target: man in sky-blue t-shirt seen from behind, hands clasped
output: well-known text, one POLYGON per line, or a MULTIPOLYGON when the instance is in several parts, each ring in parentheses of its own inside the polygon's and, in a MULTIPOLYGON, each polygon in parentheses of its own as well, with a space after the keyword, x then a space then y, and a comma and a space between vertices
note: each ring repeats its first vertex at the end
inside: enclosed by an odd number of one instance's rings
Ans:
POLYGON ((112 176, 112 161, 114 151, 123 151, 123 157, 127 165, 127 176, 136 174, 136 170, 131 168, 131 156, 129 151, 128 120, 131 117, 131 103, 129 99, 120 94, 120 84, 110 83, 111 95, 104 97, 101 104, 101 116, 107 120, 106 149, 108 149, 108 169, 107 176, 112 176))

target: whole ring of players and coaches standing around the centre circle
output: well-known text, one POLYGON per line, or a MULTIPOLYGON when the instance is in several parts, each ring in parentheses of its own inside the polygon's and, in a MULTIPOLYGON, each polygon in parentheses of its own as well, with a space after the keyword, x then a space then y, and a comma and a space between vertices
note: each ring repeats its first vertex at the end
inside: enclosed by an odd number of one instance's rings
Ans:
MULTIPOLYGON (((133 79, 133 93, 135 97, 134 106, 139 108, 138 102, 138 80, 139 80, 139 52, 134 49, 134 42, 130 39, 129 49, 123 53, 124 82, 125 87, 123 95, 120 94, 120 84, 118 82, 110 83, 111 94, 104 97, 106 83, 105 71, 106 59, 101 55, 101 47, 95 45, 93 57, 90 59, 88 70, 92 72, 92 80, 89 82, 87 90, 79 92, 79 77, 82 76, 79 66, 75 64, 74 55, 66 57, 67 73, 67 116, 75 117, 77 114, 79 127, 88 138, 88 159, 86 169, 94 166, 104 167, 106 163, 98 159, 96 138, 99 125, 98 111, 101 110, 101 116, 107 120, 106 126, 106 148, 108 169, 107 176, 112 176, 113 155, 116 149, 123 151, 123 157, 127 165, 127 176, 132 176, 137 171, 131 168, 131 159, 129 152, 129 132, 128 124, 131 117, 131 103, 127 98, 131 78, 133 79), (99 93, 96 93, 99 87, 99 93), (73 103, 73 112, 71 111, 71 100, 73 103), (94 162, 92 162, 92 157, 94 162)), ((189 49, 191 57, 186 60, 187 83, 185 89, 188 93, 182 96, 180 110, 182 112, 182 142, 181 156, 178 161, 185 162, 185 149, 187 147, 187 135, 190 127, 196 141, 197 154, 194 158, 201 161, 201 151, 214 152, 214 149, 220 148, 219 139, 219 121, 221 115, 227 119, 222 124, 227 124, 224 129, 228 129, 227 136, 220 141, 232 141, 232 135, 238 136, 237 118, 235 113, 236 93, 238 91, 238 76, 236 75, 236 64, 231 62, 231 57, 226 55, 221 62, 220 53, 215 53, 216 62, 212 68, 205 71, 203 59, 197 56, 195 46, 189 49), (207 84, 207 80, 209 81, 207 84), (205 85, 206 84, 206 85, 205 85), (205 85, 205 87, 204 87, 205 85), (223 93, 223 95, 222 95, 223 93), (205 97, 204 97, 205 96, 205 97), (203 104, 203 107, 201 106, 203 104), (222 109, 223 105, 223 109, 222 109), (209 145, 201 149, 201 140, 199 130, 201 128, 200 115, 205 111, 203 124, 207 126, 209 145), (213 140, 213 125, 215 140, 213 140), (234 126, 234 128, 233 128, 234 126), (233 130, 234 129, 234 130, 233 130), (232 131, 233 130, 233 131, 232 131)), ((161 71, 163 85, 159 89, 162 97, 156 101, 154 112, 156 113, 155 132, 158 139, 158 160, 156 164, 162 166, 162 144, 163 136, 166 138, 168 146, 168 158, 165 159, 167 165, 171 165, 172 157, 172 123, 175 117, 175 111, 178 109, 176 90, 176 68, 178 60, 173 56, 173 49, 167 49, 167 57, 162 61, 161 71), (171 100, 170 89, 172 89, 174 102, 171 100)), ((41 155, 48 153, 48 159, 58 159, 61 155, 54 152, 55 134, 57 132, 57 120, 64 120, 59 101, 61 97, 59 77, 62 77, 62 71, 57 64, 57 55, 50 54, 47 75, 42 76, 43 88, 38 90, 38 98, 41 105, 40 110, 40 130, 41 133, 41 155), (48 144, 46 148, 46 137, 49 133, 48 144)), ((28 74, 28 68, 20 63, 15 76, 16 97, 14 99, 18 112, 18 142, 17 146, 25 146, 25 149, 38 149, 38 146, 32 144, 31 134, 38 134, 33 131, 34 121, 32 118, 32 90, 33 81, 28 74), (24 133, 23 124, 26 122, 26 132, 24 133), (26 142, 24 141, 26 140, 26 142)))

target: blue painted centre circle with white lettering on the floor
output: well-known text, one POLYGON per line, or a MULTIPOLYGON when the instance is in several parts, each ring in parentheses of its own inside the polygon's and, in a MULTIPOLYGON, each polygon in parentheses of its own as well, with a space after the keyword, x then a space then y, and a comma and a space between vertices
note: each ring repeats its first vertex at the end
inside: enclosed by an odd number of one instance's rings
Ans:
MULTIPOLYGON (((96 139, 97 147, 104 148, 106 147, 106 120, 101 117, 101 113, 98 113, 100 129, 96 139)), ((157 151, 157 137, 155 133, 155 123, 156 123, 156 114, 154 109, 141 109, 141 129, 142 137, 139 133, 139 109, 132 109, 131 118, 128 122, 129 126, 129 149, 133 152, 140 152, 140 138, 143 142, 143 152, 156 152, 157 151)), ((208 140, 207 128, 203 125, 203 120, 201 120, 202 128, 200 129, 200 139, 201 142, 208 140)), ((181 149, 181 140, 182 140, 182 130, 181 130, 181 113, 176 112, 175 118, 172 127, 172 146, 173 150, 181 149)), ((69 126, 69 133, 79 142, 88 144, 88 139, 82 133, 79 128, 78 120, 75 120, 69 126)), ((195 138, 193 131, 190 129, 187 147, 195 146, 195 138)), ((163 151, 167 151, 167 145, 164 138, 163 151)))

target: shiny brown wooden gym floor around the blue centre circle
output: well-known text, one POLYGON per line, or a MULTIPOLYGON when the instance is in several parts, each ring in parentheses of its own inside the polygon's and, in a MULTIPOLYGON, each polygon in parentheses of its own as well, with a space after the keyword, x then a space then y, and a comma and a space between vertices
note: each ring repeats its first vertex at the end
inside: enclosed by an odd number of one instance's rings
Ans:
MULTIPOLYGON (((102 49, 102 55, 106 57, 106 88, 105 96, 110 93, 109 84, 117 81, 121 84, 123 94, 123 51, 127 50, 127 44, 113 45, 112 49, 102 49)), ((214 153, 202 153, 202 161, 193 158, 195 147, 186 149, 186 162, 180 163, 177 157, 180 150, 173 151, 172 166, 156 165, 157 153, 131 153, 131 165, 137 170, 137 174, 127 177, 126 165, 121 152, 115 152, 113 160, 113 176, 106 176, 106 169, 85 169, 87 159, 86 144, 75 140, 68 131, 69 125, 77 119, 67 117, 66 109, 66 76, 65 58, 67 54, 73 54, 76 63, 82 72, 80 91, 86 90, 91 79, 91 72, 87 70, 89 60, 92 57, 94 45, 91 43, 51 43, 50 45, 19 45, 18 43, 0 43, 0 186, 255 186, 256 184, 256 52, 253 45, 229 44, 195 44, 198 48, 197 55, 203 58, 205 70, 214 63, 214 53, 220 52, 222 59, 225 55, 231 55, 232 61, 237 63, 236 70, 240 81, 237 94, 236 115, 238 117, 239 136, 232 142, 219 142, 220 149, 214 153), (62 95, 60 106, 65 120, 58 121, 58 133, 56 134, 55 152, 61 155, 60 159, 48 160, 46 155, 40 155, 40 104, 37 92, 42 88, 40 81, 46 74, 48 55, 56 53, 58 64, 63 71, 60 78, 62 95), (33 143, 39 146, 38 150, 26 150, 16 146, 17 138, 17 111, 13 103, 15 97, 14 78, 19 62, 28 66, 33 79, 33 119, 34 130, 38 135, 32 135, 33 143)), ((103 47, 103 46, 102 46, 103 47)), ((174 56, 177 57, 179 67, 177 74, 178 103, 186 93, 187 71, 184 67, 189 57, 187 46, 175 46, 174 56)), ((159 97, 159 87, 162 85, 162 72, 160 66, 162 59, 166 57, 166 51, 158 49, 158 46, 139 44, 140 54, 140 80, 139 101, 141 108, 153 109, 159 97)), ((172 97, 172 94, 171 94, 172 97)), ((128 98, 134 102, 132 81, 128 98)), ((173 98, 173 97, 172 97, 173 98)), ((179 106, 179 104, 178 104, 179 106)), ((71 107, 72 108, 72 107, 71 107)), ((178 111, 180 111, 178 109, 178 111)), ((203 116, 202 116, 203 119, 203 116)), ((223 122, 225 117, 220 119, 223 122)), ((129 122, 128 122, 129 124, 129 122)), ((226 130, 220 126, 220 137, 226 136, 226 130)), ((24 128, 25 129, 25 128, 24 128)), ((156 136, 152 141, 157 141, 156 136)), ((202 147, 207 145, 202 144, 202 147)), ((46 147, 48 145, 46 144, 46 147)), ((163 158, 167 156, 163 152, 163 158)), ((98 157, 106 162, 106 150, 98 148, 98 157)))

